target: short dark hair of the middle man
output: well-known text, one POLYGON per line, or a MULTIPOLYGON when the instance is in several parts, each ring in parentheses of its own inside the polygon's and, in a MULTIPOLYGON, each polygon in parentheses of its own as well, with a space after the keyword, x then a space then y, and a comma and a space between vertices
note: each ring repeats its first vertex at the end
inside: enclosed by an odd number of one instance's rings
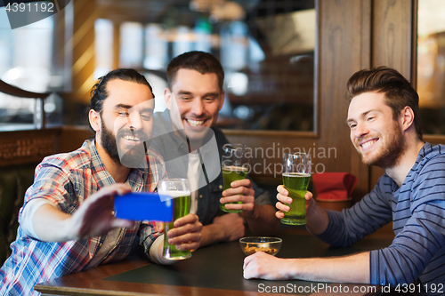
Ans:
POLYGON ((166 70, 167 84, 170 89, 176 73, 182 68, 196 70, 203 75, 207 73, 216 74, 218 85, 223 91, 224 70, 220 61, 214 55, 208 52, 185 52, 171 60, 166 70))

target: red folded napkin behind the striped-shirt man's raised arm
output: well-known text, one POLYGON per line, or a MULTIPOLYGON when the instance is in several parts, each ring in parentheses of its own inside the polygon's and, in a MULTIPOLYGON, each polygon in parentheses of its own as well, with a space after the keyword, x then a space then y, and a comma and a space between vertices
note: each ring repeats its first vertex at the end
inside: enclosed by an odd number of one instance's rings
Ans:
POLYGON ((349 172, 323 172, 312 176, 317 198, 321 200, 346 200, 352 194, 357 178, 349 172))

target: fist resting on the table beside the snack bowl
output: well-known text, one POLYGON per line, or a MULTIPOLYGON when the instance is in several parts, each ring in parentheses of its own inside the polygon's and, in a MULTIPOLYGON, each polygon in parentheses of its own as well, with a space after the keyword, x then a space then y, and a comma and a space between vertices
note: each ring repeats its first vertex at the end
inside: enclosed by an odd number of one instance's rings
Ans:
POLYGON ((266 254, 265 252, 255 252, 247 256, 244 260, 244 273, 246 279, 263 278, 267 280, 287 279, 284 274, 287 271, 287 260, 266 254))

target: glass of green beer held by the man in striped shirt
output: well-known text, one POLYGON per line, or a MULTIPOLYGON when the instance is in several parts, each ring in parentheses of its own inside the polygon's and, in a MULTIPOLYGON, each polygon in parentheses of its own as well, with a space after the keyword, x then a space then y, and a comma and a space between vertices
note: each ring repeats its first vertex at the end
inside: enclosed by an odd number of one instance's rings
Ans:
POLYGON ((285 153, 283 156, 283 185, 292 198, 289 212, 284 212, 281 223, 287 225, 306 224, 306 194, 311 180, 311 154, 285 153))

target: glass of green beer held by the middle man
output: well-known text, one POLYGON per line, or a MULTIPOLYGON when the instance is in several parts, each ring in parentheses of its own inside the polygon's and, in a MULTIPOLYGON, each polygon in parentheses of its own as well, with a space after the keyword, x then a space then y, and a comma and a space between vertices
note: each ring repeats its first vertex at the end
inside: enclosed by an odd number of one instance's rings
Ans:
MULTIPOLYGON (((223 168, 223 190, 231 188, 234 180, 246 179, 249 164, 248 148, 244 144, 225 144, 223 146, 222 168, 223 168)), ((242 204, 242 202, 230 203, 242 204)), ((242 210, 228 210, 225 204, 220 204, 223 212, 241 212, 242 210)))

